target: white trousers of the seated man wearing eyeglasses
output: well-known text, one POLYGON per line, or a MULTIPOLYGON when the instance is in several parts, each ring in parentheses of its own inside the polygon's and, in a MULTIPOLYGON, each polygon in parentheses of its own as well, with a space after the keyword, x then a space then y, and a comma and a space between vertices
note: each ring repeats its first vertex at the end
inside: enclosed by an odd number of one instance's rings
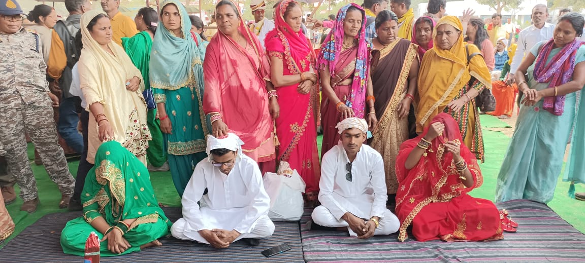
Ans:
MULTIPOLYGON (((190 232, 189 236, 185 236, 185 225, 187 225, 187 221, 185 221, 184 218, 180 218, 177 220, 177 222, 173 223, 173 226, 171 227, 171 234, 173 235, 173 237, 175 237, 176 239, 181 239, 181 240, 190 240, 190 241, 197 241, 199 243, 205 243, 205 244, 209 244, 209 242, 207 240, 205 240, 198 232, 190 232)), ((221 226, 216 227, 217 229, 221 229, 221 226)), ((211 230, 211 229, 209 229, 211 230)), ((226 229, 226 230, 232 230, 232 229, 226 229)), ((272 222, 272 220, 270 220, 270 218, 268 218, 268 216, 261 216, 258 220, 256 220, 256 224, 254 225, 254 228, 252 229, 252 232, 250 233, 243 233, 240 234, 240 236, 238 238, 236 238, 235 241, 238 241, 240 239, 264 239, 266 237, 270 237, 272 236, 272 234, 274 233, 274 223, 272 222)))

